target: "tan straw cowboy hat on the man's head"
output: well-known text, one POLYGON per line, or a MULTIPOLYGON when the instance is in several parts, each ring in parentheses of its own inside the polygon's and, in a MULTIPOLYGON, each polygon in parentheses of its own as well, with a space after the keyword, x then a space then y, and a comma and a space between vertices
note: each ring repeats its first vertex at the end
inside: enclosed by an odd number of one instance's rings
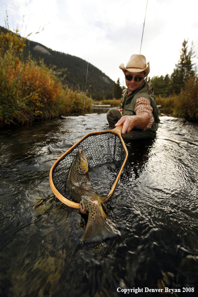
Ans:
POLYGON ((145 72, 145 76, 148 75, 150 72, 150 65, 149 62, 146 66, 146 58, 143 54, 132 54, 129 61, 126 64, 126 67, 124 67, 124 64, 120 64, 119 68, 125 73, 125 71, 129 72, 145 72))

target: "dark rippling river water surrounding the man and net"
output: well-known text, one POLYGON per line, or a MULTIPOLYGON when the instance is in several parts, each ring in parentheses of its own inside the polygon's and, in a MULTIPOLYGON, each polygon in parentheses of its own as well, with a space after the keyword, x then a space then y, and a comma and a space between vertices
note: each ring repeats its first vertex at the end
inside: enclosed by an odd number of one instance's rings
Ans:
POLYGON ((120 235, 83 243, 84 215, 52 193, 53 162, 105 111, 0 132, 0 296, 198 295, 197 124, 160 116, 154 139, 125 140, 103 204, 120 235))

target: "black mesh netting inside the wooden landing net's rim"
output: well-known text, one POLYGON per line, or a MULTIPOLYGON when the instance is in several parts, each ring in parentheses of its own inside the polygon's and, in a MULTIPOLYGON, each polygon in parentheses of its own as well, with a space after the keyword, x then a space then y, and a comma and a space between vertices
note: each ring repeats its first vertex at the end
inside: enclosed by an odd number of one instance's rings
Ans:
POLYGON ((88 135, 57 162, 52 170, 52 181, 55 188, 64 197, 68 197, 67 172, 79 149, 86 155, 88 173, 94 189, 103 196, 107 195, 126 157, 120 137, 112 132, 88 135))

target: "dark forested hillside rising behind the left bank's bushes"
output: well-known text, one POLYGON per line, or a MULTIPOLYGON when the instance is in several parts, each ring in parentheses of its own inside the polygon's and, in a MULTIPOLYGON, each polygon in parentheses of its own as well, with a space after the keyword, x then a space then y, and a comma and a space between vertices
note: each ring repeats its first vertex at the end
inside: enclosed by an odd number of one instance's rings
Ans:
MULTIPOLYGON (((0 26, 0 30, 6 29, 0 26)), ((87 61, 27 39, 23 58, 26 59, 29 54, 36 61, 43 59, 47 67, 55 66, 56 70, 62 69, 62 76, 65 75, 63 84, 67 84, 73 90, 85 90, 87 61)), ((113 92, 113 80, 92 64, 88 64, 86 89, 86 94, 91 95, 93 99, 102 99, 107 92, 113 92)))

